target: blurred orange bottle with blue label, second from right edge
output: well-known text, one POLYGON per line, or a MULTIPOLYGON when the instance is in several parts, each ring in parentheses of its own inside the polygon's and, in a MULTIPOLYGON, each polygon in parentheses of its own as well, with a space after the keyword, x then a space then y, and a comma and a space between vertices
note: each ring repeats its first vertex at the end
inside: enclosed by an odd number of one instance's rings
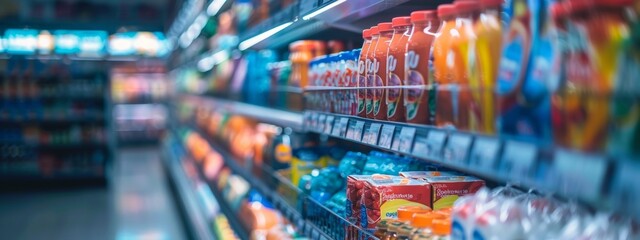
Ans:
MULTIPOLYGON (((601 150, 604 148, 609 124, 607 94, 613 83, 611 79, 601 78, 604 75, 600 74, 605 69, 598 64, 603 62, 603 59, 599 59, 603 56, 596 52, 602 51, 598 48, 612 47, 620 42, 598 39, 605 36, 603 33, 590 34, 594 21, 601 20, 592 14, 595 7, 593 1, 571 0, 569 4, 571 13, 567 29, 570 53, 566 61, 567 90, 564 95, 569 147, 586 151, 601 150), (597 43, 598 41, 601 43, 597 43)), ((612 49, 605 51, 613 52, 612 49)), ((613 61, 612 58, 609 57, 608 60, 613 61)))

